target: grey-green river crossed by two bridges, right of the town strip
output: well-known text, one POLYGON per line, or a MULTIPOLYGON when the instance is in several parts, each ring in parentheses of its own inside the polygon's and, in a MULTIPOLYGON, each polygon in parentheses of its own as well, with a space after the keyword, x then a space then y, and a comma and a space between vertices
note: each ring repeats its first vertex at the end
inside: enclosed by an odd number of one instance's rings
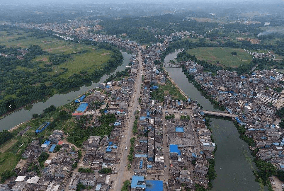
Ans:
MULTIPOLYGON (((175 60, 181 50, 165 57, 164 62, 175 60)), ((188 82, 181 68, 165 68, 173 81, 191 100, 196 100, 204 110, 218 111, 210 100, 188 82)), ((212 190, 268 190, 255 181, 253 170, 256 169, 248 144, 239 138, 237 128, 228 118, 210 118, 212 136, 217 145, 215 171, 217 177, 212 180, 212 190)))

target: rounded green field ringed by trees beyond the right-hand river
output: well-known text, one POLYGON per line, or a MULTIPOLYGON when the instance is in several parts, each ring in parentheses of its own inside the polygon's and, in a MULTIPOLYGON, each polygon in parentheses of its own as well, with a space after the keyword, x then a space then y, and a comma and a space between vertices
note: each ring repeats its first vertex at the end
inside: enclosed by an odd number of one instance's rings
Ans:
POLYGON ((186 52, 196 55, 200 60, 223 67, 238 67, 241 64, 248 64, 252 60, 251 54, 241 48, 200 47, 189 49, 186 52), (237 55, 232 55, 233 51, 237 52, 237 55), (217 64, 217 61, 220 64, 217 64))

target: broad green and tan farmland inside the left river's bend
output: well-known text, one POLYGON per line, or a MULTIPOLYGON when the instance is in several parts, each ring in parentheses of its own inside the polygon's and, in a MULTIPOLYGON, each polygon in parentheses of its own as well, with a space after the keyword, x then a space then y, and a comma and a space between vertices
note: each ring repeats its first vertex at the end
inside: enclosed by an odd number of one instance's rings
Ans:
MULTIPOLYGON (((43 74, 48 74, 52 76, 59 72, 62 72, 58 77, 69 77, 72 74, 79 74, 79 71, 84 70, 87 72, 92 72, 96 69, 100 69, 112 56, 110 50, 101 49, 91 45, 85 45, 75 42, 69 42, 65 40, 58 40, 52 37, 44 37, 37 39, 36 36, 27 37, 27 35, 32 34, 33 32, 25 33, 23 30, 10 30, 0 31, 0 45, 6 45, 6 47, 21 47, 27 48, 30 45, 39 45, 42 50, 50 52, 52 54, 70 54, 71 57, 67 58, 66 62, 63 62, 59 65, 52 65, 53 71, 45 71, 43 74), (22 35, 18 35, 22 33, 22 35), (25 39, 18 39, 19 37, 25 37, 25 39), (82 50, 87 50, 87 52, 81 52, 82 50), (81 52, 81 53, 78 53, 81 52), (65 70, 64 70, 65 68, 65 70), (68 69, 66 71, 66 69, 68 69)), ((41 55, 34 58, 31 62, 38 62, 38 67, 45 68, 45 64, 50 64, 49 55, 41 55)), ((23 71, 34 71, 36 68, 26 68, 22 66, 17 66, 18 70, 23 71)), ((47 76, 47 77, 48 77, 47 76)), ((46 81, 45 84, 49 86, 52 82, 46 81)), ((40 83, 32 84, 33 86, 40 86, 40 83)), ((16 98, 16 95, 6 95, 13 96, 16 98)), ((4 97, 4 98, 6 98, 4 97)))

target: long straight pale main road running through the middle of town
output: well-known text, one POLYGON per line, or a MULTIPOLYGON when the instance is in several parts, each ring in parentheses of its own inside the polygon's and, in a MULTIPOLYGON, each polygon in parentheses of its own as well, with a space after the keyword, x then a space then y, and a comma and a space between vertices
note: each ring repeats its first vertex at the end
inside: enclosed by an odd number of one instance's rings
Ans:
POLYGON ((137 80, 135 81, 136 83, 133 89, 133 94, 131 96, 131 99, 128 105, 128 111, 130 113, 127 114, 127 118, 129 119, 125 121, 125 125, 126 125, 125 132, 124 132, 125 137, 122 137, 120 139, 120 144, 118 148, 119 151, 117 154, 117 158, 120 158, 120 161, 118 164, 115 164, 116 169, 114 171, 117 171, 118 169, 119 170, 118 170, 118 173, 116 173, 115 175, 111 175, 110 177, 110 181, 113 180, 113 184, 111 185, 112 188, 110 190, 114 190, 114 191, 120 190, 121 187, 123 186, 123 182, 125 180, 130 180, 130 178, 132 177, 131 171, 127 170, 127 164, 129 163, 127 159, 127 155, 129 154, 130 139, 134 137, 132 133, 132 127, 135 121, 134 111, 141 110, 141 106, 138 104, 138 98, 140 97, 141 84, 142 84, 142 72, 143 72, 142 55, 141 55, 140 50, 138 50, 137 59, 139 62, 139 68, 138 68, 138 73, 136 77, 137 80), (132 119, 131 119, 131 116, 132 116, 132 119), (127 146, 127 150, 125 150, 126 146, 127 146))

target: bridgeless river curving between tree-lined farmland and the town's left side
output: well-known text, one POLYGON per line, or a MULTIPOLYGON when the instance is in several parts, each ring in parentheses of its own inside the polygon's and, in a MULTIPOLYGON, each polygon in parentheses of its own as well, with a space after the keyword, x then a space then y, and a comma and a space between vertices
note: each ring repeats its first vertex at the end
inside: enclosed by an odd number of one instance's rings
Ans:
POLYGON ((54 94, 49 98, 41 100, 37 103, 29 104, 20 110, 6 115, 0 120, 0 132, 11 129, 22 122, 30 120, 33 113, 42 113, 43 109, 49 107, 50 105, 59 107, 67 104, 77 98, 79 95, 84 94, 86 91, 96 88, 100 83, 105 81, 109 75, 115 74, 116 71, 124 70, 130 62, 130 54, 123 51, 121 51, 121 53, 123 54, 123 64, 118 66, 115 70, 110 71, 110 73, 102 76, 99 81, 94 81, 93 83, 88 83, 81 87, 72 88, 66 92, 54 94))

